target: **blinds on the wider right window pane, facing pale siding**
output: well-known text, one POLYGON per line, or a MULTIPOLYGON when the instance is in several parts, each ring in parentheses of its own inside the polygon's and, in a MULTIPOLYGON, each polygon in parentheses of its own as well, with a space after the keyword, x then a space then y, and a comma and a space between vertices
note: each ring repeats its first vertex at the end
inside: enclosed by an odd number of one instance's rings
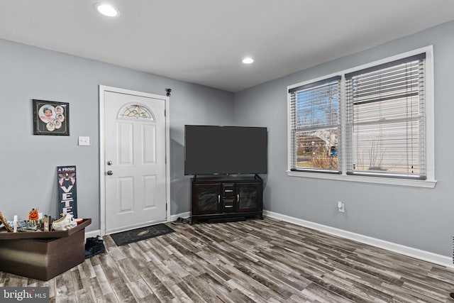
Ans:
POLYGON ((345 75, 348 174, 426 178, 425 57, 345 75))

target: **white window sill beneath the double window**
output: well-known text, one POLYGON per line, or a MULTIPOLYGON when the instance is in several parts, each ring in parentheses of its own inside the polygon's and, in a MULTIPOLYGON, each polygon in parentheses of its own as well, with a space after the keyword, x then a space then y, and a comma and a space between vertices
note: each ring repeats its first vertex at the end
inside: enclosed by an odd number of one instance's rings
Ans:
POLYGON ((303 178, 311 178, 311 179, 364 182, 364 183, 389 184, 389 185, 425 187, 425 188, 435 188, 435 186, 437 184, 436 180, 408 180, 408 179, 395 179, 395 178, 386 178, 386 177, 364 177, 364 176, 325 174, 325 173, 317 173, 317 172, 293 172, 291 170, 287 170, 287 175, 289 177, 303 177, 303 178))

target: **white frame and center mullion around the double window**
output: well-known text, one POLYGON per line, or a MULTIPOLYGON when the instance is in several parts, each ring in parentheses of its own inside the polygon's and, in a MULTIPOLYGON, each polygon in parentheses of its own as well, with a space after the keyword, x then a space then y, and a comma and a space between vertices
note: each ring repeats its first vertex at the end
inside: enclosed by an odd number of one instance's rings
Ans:
POLYGON ((349 68, 347 70, 341 70, 339 72, 334 72, 330 75, 323 75, 322 77, 317 77, 315 79, 309 79, 304 82, 299 82, 297 84, 292 84, 287 87, 287 175, 290 177, 308 177, 314 179, 323 179, 323 180, 342 180, 342 181, 353 181, 353 182, 366 182, 366 183, 375 183, 375 184, 393 184, 393 185, 402 185, 402 186, 411 186, 411 187, 427 187, 434 188, 436 186, 435 180, 435 144, 434 144, 434 84, 433 84, 433 45, 428 45, 423 48, 418 48, 416 50, 410 50, 405 53, 400 53, 398 55, 393 55, 391 57, 385 57, 381 60, 376 60, 364 65, 359 65, 356 67, 349 68), (396 61, 403 59, 405 57, 411 57, 413 55, 418 55, 420 53, 426 53, 426 62, 425 62, 425 106, 426 106, 426 180, 414 180, 406 178, 393 178, 386 176, 365 176, 365 175, 348 175, 346 170, 347 158, 346 158, 346 146, 345 140, 341 140, 339 145, 339 155, 338 170, 341 171, 340 174, 326 174, 323 172, 316 171, 294 171, 292 170, 292 114, 291 114, 291 98, 289 90, 294 89, 295 87, 301 87, 306 84, 311 84, 313 82, 323 81, 323 79, 328 79, 331 77, 341 77, 341 87, 339 93, 339 106, 341 112, 339 113, 341 119, 341 138, 346 138, 346 106, 345 106, 345 75, 351 72, 356 72, 358 70, 364 70, 368 67, 375 67, 377 65, 382 65, 388 62, 396 61))

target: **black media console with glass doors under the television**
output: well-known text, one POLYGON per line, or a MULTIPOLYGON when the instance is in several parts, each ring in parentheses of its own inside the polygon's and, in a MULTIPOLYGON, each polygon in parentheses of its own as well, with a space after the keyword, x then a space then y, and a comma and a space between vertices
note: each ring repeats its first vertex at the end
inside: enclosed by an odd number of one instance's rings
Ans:
POLYGON ((191 224, 263 219, 263 181, 260 177, 194 177, 191 186, 191 224))

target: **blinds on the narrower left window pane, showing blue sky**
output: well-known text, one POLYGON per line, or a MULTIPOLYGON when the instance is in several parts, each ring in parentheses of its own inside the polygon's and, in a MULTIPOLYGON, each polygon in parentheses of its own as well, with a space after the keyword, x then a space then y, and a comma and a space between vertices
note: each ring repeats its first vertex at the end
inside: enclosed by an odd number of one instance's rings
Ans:
POLYGON ((341 77, 289 89, 292 170, 338 173, 341 77))

